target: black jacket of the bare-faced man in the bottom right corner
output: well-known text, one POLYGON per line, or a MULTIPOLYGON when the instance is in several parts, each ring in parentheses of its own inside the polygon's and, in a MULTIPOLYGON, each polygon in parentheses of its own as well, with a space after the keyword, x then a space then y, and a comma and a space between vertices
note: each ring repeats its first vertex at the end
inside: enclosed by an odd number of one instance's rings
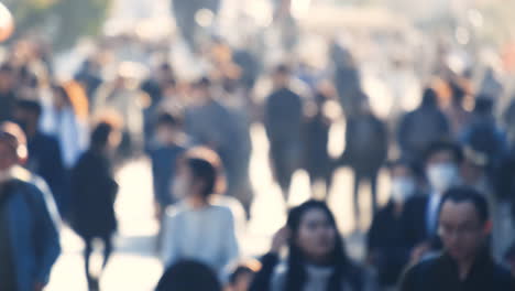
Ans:
POLYGON ((514 279, 483 251, 468 278, 461 281, 456 262, 448 256, 424 261, 407 271, 401 291, 513 291, 514 279))

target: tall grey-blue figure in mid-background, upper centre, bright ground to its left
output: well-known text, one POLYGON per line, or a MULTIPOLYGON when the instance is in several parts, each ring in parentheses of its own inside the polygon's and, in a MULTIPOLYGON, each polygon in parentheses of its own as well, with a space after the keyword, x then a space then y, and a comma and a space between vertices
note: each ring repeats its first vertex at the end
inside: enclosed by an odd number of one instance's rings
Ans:
POLYGON ((266 99, 264 118, 272 169, 286 202, 292 176, 300 166, 303 150, 303 100, 289 89, 289 68, 277 66, 273 73, 274 91, 266 99))

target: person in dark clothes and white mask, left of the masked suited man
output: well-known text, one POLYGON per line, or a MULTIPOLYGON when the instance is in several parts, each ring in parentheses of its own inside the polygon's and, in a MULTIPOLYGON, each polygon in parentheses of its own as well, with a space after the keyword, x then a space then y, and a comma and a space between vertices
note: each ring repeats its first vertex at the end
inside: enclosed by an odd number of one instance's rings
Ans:
POLYGON ((379 274, 379 283, 387 290, 395 287, 409 260, 401 219, 405 202, 417 194, 416 169, 406 160, 390 163, 392 190, 390 203, 380 209, 368 237, 368 260, 379 274))

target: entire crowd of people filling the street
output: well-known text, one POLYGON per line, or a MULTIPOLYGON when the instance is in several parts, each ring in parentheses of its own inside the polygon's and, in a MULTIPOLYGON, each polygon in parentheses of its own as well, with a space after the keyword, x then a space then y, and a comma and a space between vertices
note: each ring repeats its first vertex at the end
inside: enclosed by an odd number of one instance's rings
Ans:
MULTIPOLYGON (((117 53, 130 44, 103 43, 117 53)), ((63 82, 45 46, 13 43, 0 65, 0 290, 44 289, 64 225, 85 241, 87 282, 98 290, 92 240, 103 242, 105 268, 116 250, 116 172, 141 157, 152 164, 166 269, 157 290, 514 290, 515 100, 498 115, 492 90, 435 72, 438 86, 420 93, 418 108, 384 120, 358 65, 338 52, 348 54, 332 50, 333 74, 292 60, 263 68, 251 51, 216 39, 197 52, 209 68, 194 80, 167 60, 138 74, 120 53, 114 62, 91 55, 63 82), (253 98, 261 77, 272 80, 262 104, 253 98), (336 158, 330 105, 347 125, 336 158), (288 211, 269 254, 242 259, 240 236, 261 191, 249 174, 253 123, 265 128, 285 201, 297 170, 326 184, 327 201, 335 171, 347 166, 359 231, 360 185, 370 184, 363 260, 348 255, 331 208, 317 200, 288 211), (383 169, 386 205, 377 200, 383 169)))

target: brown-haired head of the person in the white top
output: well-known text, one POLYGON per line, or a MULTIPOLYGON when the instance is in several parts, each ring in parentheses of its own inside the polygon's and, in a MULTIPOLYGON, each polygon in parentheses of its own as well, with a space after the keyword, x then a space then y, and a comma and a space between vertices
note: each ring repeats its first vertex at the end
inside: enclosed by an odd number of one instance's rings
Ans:
POLYGON ((176 198, 196 197, 208 202, 221 191, 221 162, 211 150, 191 149, 178 162, 172 194, 176 198))

